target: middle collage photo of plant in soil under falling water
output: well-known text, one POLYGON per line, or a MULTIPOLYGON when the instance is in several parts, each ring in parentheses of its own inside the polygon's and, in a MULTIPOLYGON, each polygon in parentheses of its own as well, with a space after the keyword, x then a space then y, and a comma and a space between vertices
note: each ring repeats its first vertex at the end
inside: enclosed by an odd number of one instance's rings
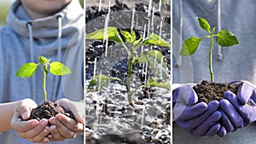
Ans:
POLYGON ((171 143, 170 2, 84 8, 86 143, 171 143))

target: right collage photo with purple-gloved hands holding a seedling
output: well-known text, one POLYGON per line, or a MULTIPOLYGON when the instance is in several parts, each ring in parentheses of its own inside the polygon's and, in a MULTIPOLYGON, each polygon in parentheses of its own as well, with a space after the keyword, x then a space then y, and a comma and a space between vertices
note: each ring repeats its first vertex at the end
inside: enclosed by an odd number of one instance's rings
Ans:
POLYGON ((173 1, 173 144, 255 142, 255 5, 173 1))

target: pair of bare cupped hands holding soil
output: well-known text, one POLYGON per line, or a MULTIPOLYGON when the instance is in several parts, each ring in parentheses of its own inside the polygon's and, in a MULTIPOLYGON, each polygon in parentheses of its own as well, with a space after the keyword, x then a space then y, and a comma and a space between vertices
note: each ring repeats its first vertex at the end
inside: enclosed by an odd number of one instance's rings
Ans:
POLYGON ((19 101, 15 108, 14 116, 10 123, 12 129, 21 138, 38 143, 65 141, 82 133, 84 130, 83 112, 81 110, 83 103, 70 101, 65 98, 55 102, 68 111, 73 112, 76 120, 68 118, 63 114, 57 114, 49 119, 43 118, 39 121, 37 119, 26 120, 30 118, 32 108, 38 107, 38 105, 32 99, 24 99, 19 101), (47 126, 48 124, 51 125, 47 126))

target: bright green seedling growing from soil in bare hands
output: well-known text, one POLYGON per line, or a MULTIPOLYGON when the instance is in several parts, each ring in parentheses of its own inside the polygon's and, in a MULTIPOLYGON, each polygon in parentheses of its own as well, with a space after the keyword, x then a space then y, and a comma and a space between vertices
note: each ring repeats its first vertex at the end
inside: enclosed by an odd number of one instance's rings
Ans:
POLYGON ((19 70, 16 72, 16 76, 20 78, 30 78, 32 77, 38 69, 38 66, 43 66, 44 78, 43 78, 43 90, 44 90, 44 102, 47 101, 47 92, 46 92, 46 76, 50 72, 55 76, 61 76, 70 74, 70 69, 58 61, 49 62, 44 56, 38 57, 39 62, 26 63, 20 66, 19 70))

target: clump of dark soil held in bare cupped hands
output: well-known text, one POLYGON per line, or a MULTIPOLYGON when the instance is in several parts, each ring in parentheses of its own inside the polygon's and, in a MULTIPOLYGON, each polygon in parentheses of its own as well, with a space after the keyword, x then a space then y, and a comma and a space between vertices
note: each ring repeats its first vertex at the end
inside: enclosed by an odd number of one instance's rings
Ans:
POLYGON ((45 101, 40 106, 32 109, 31 117, 29 119, 38 119, 38 121, 42 118, 49 119, 51 117, 55 117, 55 115, 58 113, 62 113, 67 117, 74 119, 72 112, 67 111, 65 108, 61 107, 58 103, 55 103, 52 101, 45 101))

